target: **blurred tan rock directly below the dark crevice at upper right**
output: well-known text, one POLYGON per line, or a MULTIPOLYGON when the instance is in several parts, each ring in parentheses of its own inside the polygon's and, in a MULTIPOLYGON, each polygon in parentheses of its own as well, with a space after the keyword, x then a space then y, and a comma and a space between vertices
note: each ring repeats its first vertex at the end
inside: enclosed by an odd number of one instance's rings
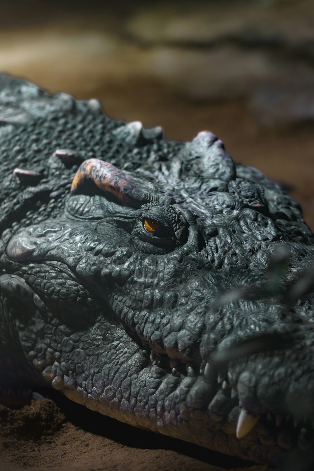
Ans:
POLYGON ((268 50, 229 45, 208 50, 155 47, 141 64, 141 72, 145 71, 196 100, 251 97, 261 84, 271 81, 280 87, 290 76, 299 77, 300 83, 314 83, 314 68, 309 65, 278 59, 268 50))

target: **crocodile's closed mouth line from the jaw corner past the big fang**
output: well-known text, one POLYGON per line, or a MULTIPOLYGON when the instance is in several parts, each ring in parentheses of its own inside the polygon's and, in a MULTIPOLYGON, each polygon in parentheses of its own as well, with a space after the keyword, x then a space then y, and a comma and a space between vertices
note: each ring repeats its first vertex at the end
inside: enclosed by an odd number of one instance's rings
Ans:
MULTIPOLYGON (((32 262, 33 263, 33 262, 32 262)), ((61 261, 51 261, 51 260, 36 260, 36 264, 44 263, 46 265, 56 265, 60 271, 66 272, 73 279, 83 282, 86 280, 81 280, 80 276, 72 272, 71 268, 64 262, 61 261)), ((7 270, 6 270, 7 271, 7 270)), ((7 272, 9 272, 8 270, 7 272)), ((91 290, 94 295, 95 291, 91 290)), ((96 298, 99 300, 99 297, 96 295, 96 298)), ((105 302, 105 300, 100 300, 105 302)), ((109 308, 109 305, 107 305, 109 308)), ((117 319, 117 316, 112 311, 112 315, 117 319)), ((214 393, 209 398, 209 401, 206 402, 207 412, 209 414, 217 414, 221 417, 221 421, 226 421, 228 418, 228 413, 234 409, 240 408, 240 413, 237 412, 238 417, 236 420, 236 437, 242 439, 250 433, 255 426, 260 423, 266 428, 270 435, 274 437, 274 440, 279 439, 280 436, 284 436, 282 440, 282 448, 287 448, 288 443, 289 447, 293 444, 297 445, 300 449, 307 449, 310 446, 313 446, 314 440, 314 419, 310 415, 303 415, 302 417, 293 416, 292 414, 278 413, 268 410, 258 415, 250 414, 250 411, 245 410, 242 407, 241 399, 239 400, 237 385, 233 381, 233 376, 230 371, 228 371, 228 365, 224 365, 220 371, 217 370, 217 366, 210 364, 206 360, 202 360, 200 363, 196 362, 182 362, 177 358, 170 358, 167 354, 157 354, 153 349, 148 345, 147 342, 143 341, 136 332, 131 331, 124 322, 119 319, 124 330, 129 334, 130 338, 135 341, 138 347, 142 350, 143 356, 148 360, 149 365, 157 365, 161 367, 167 374, 180 377, 182 380, 184 378, 195 378, 195 382, 204 381, 208 384, 208 388, 211 388, 214 393), (226 402, 230 403, 230 407, 227 412, 224 407, 224 410, 221 412, 219 409, 211 410, 211 405, 213 399, 217 395, 223 395, 226 402)), ((265 408, 264 408, 265 410, 265 408)), ((206 412, 206 410, 204 410, 206 412)))

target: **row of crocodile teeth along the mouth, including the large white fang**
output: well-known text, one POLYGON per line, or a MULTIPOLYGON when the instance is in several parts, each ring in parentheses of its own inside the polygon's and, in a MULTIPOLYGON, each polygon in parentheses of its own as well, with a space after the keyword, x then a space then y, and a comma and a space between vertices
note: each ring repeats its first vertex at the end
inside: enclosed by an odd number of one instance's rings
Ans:
MULTIPOLYGON (((145 356, 148 356, 147 350, 143 350, 143 353, 145 356)), ((162 361, 165 360, 165 357, 158 356, 156 353, 151 350, 150 353, 150 359, 153 363, 160 364, 162 361)), ((186 375, 188 377, 194 377, 196 375, 201 375, 206 381, 212 382, 213 381, 213 373, 212 373, 212 367, 210 366, 209 363, 206 363, 205 361, 201 362, 200 370, 198 368, 195 368, 195 365, 191 363, 181 363, 178 362, 177 360, 174 359, 169 359, 169 366, 171 369, 171 374, 174 376, 180 376, 182 374, 182 371, 184 371, 184 368, 186 369, 186 375), (180 373, 180 371, 181 373, 180 373)), ((218 384, 221 384, 221 389, 225 391, 230 391, 230 397, 231 399, 238 398, 238 392, 237 390, 230 386, 230 384, 233 383, 233 378, 230 372, 227 373, 227 380, 226 380, 226 375, 223 374, 218 374, 218 377, 216 376, 216 381, 218 384)), ((245 437, 258 423, 259 416, 254 416, 252 414, 249 414, 245 410, 244 407, 242 407, 241 412, 238 417, 238 422, 236 426, 236 437, 238 439, 241 439, 245 437)), ((284 419, 284 416, 281 414, 276 414, 273 415, 271 412, 268 412, 266 415, 266 420, 268 422, 274 421, 276 427, 279 427, 284 419)), ((286 417, 286 421, 290 421, 290 417, 286 417)), ((306 421, 306 419, 305 419, 306 421)), ((291 421, 294 428, 297 428, 300 424, 300 421, 298 419, 294 419, 291 421)), ((313 428, 314 428, 314 423, 313 423, 313 428)))

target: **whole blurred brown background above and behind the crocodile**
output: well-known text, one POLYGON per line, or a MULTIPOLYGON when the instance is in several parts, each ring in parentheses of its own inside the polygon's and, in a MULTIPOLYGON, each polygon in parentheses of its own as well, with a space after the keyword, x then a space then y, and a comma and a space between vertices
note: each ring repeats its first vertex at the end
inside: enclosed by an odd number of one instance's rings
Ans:
POLYGON ((169 139, 211 130, 314 229, 313 0, 0 0, 0 72, 169 139))

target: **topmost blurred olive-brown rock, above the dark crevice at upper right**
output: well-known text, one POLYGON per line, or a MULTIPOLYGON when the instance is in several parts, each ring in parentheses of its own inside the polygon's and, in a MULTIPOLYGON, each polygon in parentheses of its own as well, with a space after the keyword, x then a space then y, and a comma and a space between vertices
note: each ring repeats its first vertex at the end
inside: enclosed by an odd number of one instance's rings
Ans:
POLYGON ((241 41, 252 45, 304 46, 314 42, 314 2, 169 2, 142 8, 125 32, 143 43, 212 45, 241 41))

